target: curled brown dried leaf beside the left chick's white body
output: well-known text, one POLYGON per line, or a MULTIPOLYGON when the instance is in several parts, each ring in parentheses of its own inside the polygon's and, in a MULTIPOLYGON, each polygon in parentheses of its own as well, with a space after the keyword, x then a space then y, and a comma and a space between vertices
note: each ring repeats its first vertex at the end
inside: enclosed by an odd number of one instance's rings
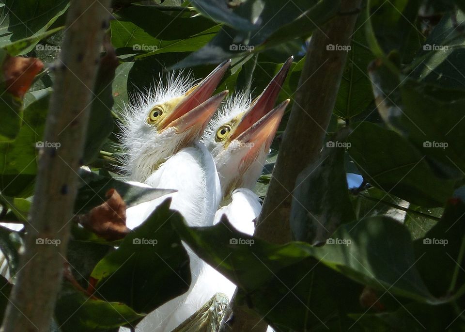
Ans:
POLYGON ((87 229, 106 240, 118 240, 126 236, 126 204, 118 191, 107 191, 107 201, 81 216, 79 222, 87 229))

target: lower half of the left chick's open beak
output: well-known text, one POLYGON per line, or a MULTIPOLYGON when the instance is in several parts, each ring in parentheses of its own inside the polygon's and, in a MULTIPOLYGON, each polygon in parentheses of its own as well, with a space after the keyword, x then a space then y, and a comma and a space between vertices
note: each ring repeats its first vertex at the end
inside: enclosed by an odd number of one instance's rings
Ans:
POLYGON ((171 122, 170 126, 175 126, 180 132, 186 131, 187 129, 195 126, 196 130, 193 130, 193 132, 197 133, 200 138, 203 130, 205 130, 208 122, 212 118, 213 114, 215 114, 227 94, 228 90, 225 90, 213 97, 210 97, 199 106, 171 122))

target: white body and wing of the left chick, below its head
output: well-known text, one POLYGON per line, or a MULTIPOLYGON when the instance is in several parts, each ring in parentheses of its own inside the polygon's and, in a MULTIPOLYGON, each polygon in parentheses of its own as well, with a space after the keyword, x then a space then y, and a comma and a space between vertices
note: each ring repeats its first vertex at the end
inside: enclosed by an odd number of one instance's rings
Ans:
MULTIPOLYGON (((194 147, 182 149, 165 161, 147 179, 146 183, 156 188, 178 190, 170 194, 172 197, 171 208, 180 211, 189 225, 213 225, 213 218, 221 197, 221 189, 215 163, 203 144, 199 143, 194 147)), ((149 211, 150 214, 156 205, 160 204, 166 197, 169 196, 154 200, 152 206, 142 213, 147 214, 149 211)), ((130 215, 132 216, 131 213, 130 215)), ((189 253, 192 272, 192 283, 189 290, 147 315, 138 324, 137 331, 170 332, 172 328, 181 324, 190 314, 195 312, 195 310, 191 313, 185 310, 188 307, 185 301, 205 263, 186 245, 185 247, 189 253)))

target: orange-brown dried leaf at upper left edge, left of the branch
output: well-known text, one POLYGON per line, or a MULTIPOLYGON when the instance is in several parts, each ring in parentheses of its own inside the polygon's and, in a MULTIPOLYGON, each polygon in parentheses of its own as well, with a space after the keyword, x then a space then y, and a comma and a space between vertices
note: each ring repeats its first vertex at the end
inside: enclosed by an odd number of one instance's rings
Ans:
POLYGON ((6 91, 22 98, 42 68, 44 63, 39 59, 8 56, 2 67, 6 91))

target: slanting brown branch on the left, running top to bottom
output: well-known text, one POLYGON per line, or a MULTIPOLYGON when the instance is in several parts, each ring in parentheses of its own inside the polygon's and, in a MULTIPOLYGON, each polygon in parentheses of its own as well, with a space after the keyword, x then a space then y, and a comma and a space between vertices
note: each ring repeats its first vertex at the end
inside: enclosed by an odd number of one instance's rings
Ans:
POLYGON ((110 0, 72 0, 56 66, 29 223, 0 331, 48 331, 62 281, 100 47, 110 0))

